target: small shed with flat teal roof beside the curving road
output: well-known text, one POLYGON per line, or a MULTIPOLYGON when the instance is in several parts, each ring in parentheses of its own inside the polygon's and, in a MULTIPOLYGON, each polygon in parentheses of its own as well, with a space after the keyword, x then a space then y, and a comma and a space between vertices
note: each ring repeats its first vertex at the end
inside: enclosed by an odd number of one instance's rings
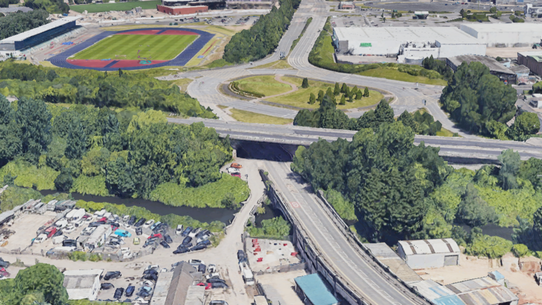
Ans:
POLYGON ((322 278, 317 274, 309 274, 294 278, 296 291, 301 291, 305 304, 311 305, 338 305, 339 301, 322 278))

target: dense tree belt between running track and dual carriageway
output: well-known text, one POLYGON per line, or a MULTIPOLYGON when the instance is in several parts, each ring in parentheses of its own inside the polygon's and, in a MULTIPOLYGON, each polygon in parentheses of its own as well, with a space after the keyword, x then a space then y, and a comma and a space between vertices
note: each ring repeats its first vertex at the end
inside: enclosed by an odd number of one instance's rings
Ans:
POLYGON ((281 0, 280 8, 275 6, 271 12, 261 15, 260 20, 249 30, 242 30, 231 37, 224 47, 222 58, 228 62, 247 62, 259 60, 273 52, 288 28, 294 9, 300 0, 281 0))

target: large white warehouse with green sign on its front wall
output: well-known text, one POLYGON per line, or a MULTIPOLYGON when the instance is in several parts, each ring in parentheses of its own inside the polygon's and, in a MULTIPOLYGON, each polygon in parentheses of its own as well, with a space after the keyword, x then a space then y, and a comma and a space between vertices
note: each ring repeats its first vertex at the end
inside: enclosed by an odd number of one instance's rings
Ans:
POLYGON ((486 44, 455 27, 333 28, 338 54, 387 56, 398 62, 474 54, 486 55, 486 44))

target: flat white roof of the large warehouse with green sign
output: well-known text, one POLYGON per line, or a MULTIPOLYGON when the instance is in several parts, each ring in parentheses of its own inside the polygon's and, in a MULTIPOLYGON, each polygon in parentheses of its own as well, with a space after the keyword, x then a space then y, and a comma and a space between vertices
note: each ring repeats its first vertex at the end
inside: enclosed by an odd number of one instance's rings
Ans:
MULTIPOLYGON (((542 26, 542 24, 541 24, 542 26)), ((435 41, 444 44, 483 44, 456 27, 334 28, 339 41, 435 41)))

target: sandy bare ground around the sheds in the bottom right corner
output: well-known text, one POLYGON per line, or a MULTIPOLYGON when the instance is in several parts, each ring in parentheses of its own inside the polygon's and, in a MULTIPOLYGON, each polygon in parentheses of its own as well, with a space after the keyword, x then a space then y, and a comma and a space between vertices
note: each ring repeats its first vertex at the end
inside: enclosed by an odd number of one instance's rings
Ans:
POLYGON ((423 279, 433 279, 435 282, 447 285, 467 279, 485 277, 488 272, 495 270, 501 272, 513 287, 519 288, 519 291, 516 289, 512 289, 512 291, 518 294, 520 305, 524 303, 542 304, 542 287, 536 284, 532 274, 510 271, 500 266, 496 259, 467 257, 461 254, 459 266, 422 269, 416 270, 416 273, 423 279))

